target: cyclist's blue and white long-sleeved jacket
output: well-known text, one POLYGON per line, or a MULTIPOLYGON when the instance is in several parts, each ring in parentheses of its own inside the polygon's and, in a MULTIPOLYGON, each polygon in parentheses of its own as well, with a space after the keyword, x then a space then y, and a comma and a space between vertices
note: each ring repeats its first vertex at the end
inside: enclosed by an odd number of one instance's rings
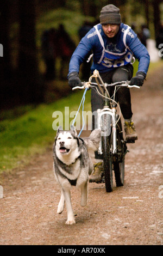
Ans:
POLYGON ((121 23, 120 30, 113 39, 103 32, 102 25, 93 27, 79 42, 69 66, 69 74, 78 72, 85 57, 92 50, 93 64, 91 71, 107 72, 118 66, 133 62, 133 56, 139 60, 138 71, 147 74, 150 57, 147 48, 141 44, 135 32, 121 23))

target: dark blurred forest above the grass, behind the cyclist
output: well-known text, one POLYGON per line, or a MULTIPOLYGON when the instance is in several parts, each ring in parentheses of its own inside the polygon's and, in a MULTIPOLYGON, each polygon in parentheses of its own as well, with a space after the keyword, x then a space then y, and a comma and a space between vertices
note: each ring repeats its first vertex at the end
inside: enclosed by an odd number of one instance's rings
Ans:
MULTIPOLYGON (((134 23, 136 31, 146 24, 152 38, 156 38, 163 19, 162 0, 1 1, 0 44, 3 57, 0 58, 0 109, 48 101, 45 96, 48 86, 43 80, 42 33, 62 24, 77 46, 78 31, 83 22, 98 21, 102 7, 111 3, 120 8, 124 23, 129 26, 134 23)), ((59 62, 59 70, 58 66, 59 62)), ((67 66, 64 67, 66 70, 67 66)))

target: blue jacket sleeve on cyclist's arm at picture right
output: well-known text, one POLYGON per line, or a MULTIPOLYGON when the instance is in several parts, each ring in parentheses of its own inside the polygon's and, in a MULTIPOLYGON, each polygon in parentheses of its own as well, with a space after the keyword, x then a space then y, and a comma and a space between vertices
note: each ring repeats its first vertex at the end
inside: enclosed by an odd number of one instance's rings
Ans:
POLYGON ((139 60, 139 68, 137 71, 145 72, 145 74, 147 74, 150 63, 149 53, 132 29, 130 29, 129 34, 127 35, 126 42, 134 56, 139 60))

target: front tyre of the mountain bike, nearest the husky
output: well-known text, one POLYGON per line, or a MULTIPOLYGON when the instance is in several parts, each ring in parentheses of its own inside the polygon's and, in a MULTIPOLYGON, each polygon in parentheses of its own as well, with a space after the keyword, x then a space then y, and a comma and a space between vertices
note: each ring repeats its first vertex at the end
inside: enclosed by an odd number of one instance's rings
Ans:
MULTIPOLYGON (((103 115, 103 127, 109 127, 110 121, 108 115, 103 115)), ((111 117, 109 117, 111 118, 111 117)), ((111 135, 102 136, 102 152, 103 152, 103 167, 104 167, 104 178, 106 192, 112 191, 112 155, 111 155, 111 135)))

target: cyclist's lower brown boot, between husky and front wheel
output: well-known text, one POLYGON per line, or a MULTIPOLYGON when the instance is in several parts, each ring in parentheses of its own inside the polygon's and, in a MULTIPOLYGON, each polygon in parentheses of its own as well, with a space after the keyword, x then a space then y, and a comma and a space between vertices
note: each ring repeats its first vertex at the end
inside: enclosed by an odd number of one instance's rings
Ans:
POLYGON ((90 182, 96 182, 96 183, 101 183, 102 181, 102 177, 104 174, 104 167, 103 167, 103 163, 102 162, 98 162, 96 164, 94 164, 94 172, 93 174, 90 176, 90 182))

